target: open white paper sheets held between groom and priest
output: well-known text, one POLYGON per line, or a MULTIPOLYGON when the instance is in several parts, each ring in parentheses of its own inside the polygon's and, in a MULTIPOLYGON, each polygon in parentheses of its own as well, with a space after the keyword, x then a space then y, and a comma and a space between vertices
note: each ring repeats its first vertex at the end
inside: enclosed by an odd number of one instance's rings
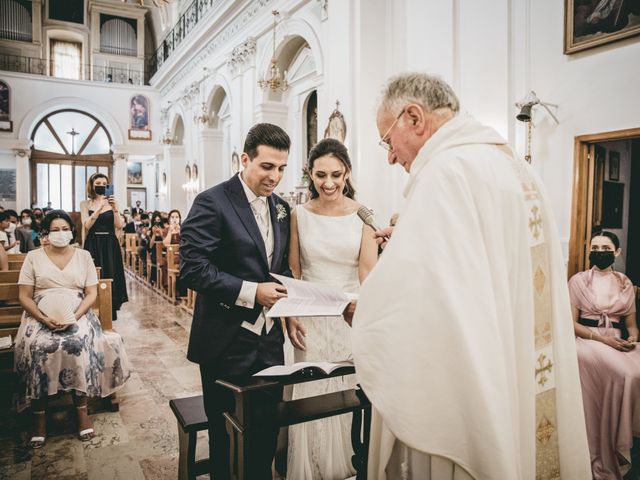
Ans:
POLYGON ((358 296, 339 288, 317 285, 272 273, 287 287, 287 298, 281 298, 266 313, 267 317, 339 317, 351 300, 358 296))

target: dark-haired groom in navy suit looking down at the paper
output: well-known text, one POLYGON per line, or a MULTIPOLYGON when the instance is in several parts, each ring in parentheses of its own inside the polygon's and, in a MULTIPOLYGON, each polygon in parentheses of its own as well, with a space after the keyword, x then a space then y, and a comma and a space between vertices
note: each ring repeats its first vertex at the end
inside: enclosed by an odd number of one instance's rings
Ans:
MULTIPOLYGON (((229 478, 229 436, 222 414, 234 404, 216 380, 284 363, 282 324, 265 317, 264 309, 286 297, 269 272, 291 276, 290 209, 273 193, 289 147, 280 127, 254 125, 241 156, 244 170, 200 193, 180 230, 180 280, 198 292, 187 358, 200 365, 215 480, 229 478)), ((271 479, 277 434, 275 429, 263 432, 259 450, 250 453, 254 471, 249 478, 271 479)))

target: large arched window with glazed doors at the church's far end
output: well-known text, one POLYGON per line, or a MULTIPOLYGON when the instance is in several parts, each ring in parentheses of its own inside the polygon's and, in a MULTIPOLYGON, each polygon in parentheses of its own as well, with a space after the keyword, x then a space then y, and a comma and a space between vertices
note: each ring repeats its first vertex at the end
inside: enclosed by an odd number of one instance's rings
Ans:
POLYGON ((87 179, 112 178, 111 136, 102 123, 79 110, 60 110, 38 122, 31 135, 31 202, 79 212, 87 179))

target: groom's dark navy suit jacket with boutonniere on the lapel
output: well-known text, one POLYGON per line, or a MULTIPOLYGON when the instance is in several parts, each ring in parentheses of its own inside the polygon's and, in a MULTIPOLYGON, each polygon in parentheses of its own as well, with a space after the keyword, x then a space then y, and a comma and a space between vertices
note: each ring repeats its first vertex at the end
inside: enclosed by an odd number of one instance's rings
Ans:
MULTIPOLYGON (((242 322, 255 323, 263 308, 236 306, 243 281, 272 282, 269 272, 291 276, 290 208, 268 199, 274 234, 271 268, 260 229, 238 175, 200 193, 180 229, 180 281, 198 292, 187 358, 210 365, 224 354, 242 322)), ((281 329, 279 321, 273 328, 281 329)), ((284 336, 283 336, 284 339, 284 336)))

